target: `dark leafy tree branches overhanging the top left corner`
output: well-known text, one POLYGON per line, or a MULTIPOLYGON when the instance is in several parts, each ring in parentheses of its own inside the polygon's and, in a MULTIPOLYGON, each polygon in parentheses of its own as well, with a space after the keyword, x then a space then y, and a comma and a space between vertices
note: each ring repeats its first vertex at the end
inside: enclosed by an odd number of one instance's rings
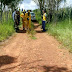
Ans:
POLYGON ((12 9, 12 12, 13 10, 15 9, 15 7, 17 7, 18 3, 22 1, 22 0, 0 0, 0 12, 1 12, 1 15, 0 15, 0 19, 2 21, 2 12, 3 12, 3 9, 5 8, 5 6, 7 5, 9 8, 12 9))

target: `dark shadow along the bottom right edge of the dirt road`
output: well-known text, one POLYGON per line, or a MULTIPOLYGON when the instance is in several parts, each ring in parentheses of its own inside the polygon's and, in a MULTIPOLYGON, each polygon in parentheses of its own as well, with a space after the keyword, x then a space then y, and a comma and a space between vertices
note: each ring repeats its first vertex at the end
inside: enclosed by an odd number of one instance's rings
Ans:
POLYGON ((36 69, 37 71, 42 72, 72 72, 71 70, 68 70, 65 67, 57 67, 57 66, 36 66, 31 67, 30 69, 36 69))

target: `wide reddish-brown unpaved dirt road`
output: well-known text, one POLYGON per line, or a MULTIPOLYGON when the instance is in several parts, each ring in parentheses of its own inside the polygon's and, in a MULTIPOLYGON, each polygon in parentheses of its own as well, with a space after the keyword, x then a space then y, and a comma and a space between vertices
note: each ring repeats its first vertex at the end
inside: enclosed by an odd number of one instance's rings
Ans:
POLYGON ((36 40, 21 31, 0 48, 0 72, 72 72, 72 55, 34 24, 36 40))

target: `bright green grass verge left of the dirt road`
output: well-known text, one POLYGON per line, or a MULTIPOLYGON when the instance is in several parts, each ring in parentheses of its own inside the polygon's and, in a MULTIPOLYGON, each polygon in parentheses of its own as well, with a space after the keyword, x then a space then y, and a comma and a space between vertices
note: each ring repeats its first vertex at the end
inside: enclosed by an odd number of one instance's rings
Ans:
POLYGON ((0 23, 0 41, 7 39, 15 32, 13 24, 14 23, 12 19, 4 21, 2 24, 0 23))

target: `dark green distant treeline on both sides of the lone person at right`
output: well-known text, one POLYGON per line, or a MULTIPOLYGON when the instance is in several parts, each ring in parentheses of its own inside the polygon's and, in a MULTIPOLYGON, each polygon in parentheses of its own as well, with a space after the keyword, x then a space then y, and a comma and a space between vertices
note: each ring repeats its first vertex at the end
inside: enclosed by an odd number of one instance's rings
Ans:
MULTIPOLYGON (((34 12, 37 15, 41 16, 39 9, 34 10, 34 12)), ((40 20, 40 18, 38 19, 40 20)), ((71 7, 60 8, 58 11, 55 10, 54 12, 52 10, 47 11, 47 22, 52 22, 52 21, 58 22, 58 21, 65 20, 65 19, 72 19, 72 8, 71 7)))

